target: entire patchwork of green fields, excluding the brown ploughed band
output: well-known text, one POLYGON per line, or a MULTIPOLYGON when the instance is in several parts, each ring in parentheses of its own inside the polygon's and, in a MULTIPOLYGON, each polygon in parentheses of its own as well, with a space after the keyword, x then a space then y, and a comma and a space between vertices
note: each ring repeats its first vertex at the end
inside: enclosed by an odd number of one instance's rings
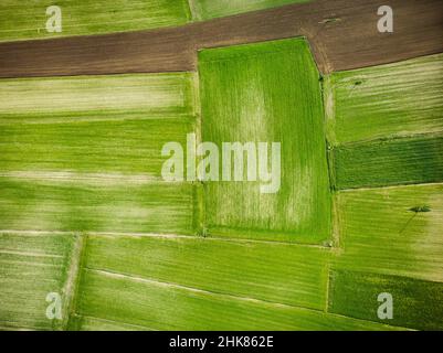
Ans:
MULTIPOLYGON (((305 1, 123 2, 70 4, 63 35, 305 1)), ((0 40, 40 38, 20 11, 0 40)), ((443 55, 321 75, 299 36, 196 60, 0 79, 0 329, 443 330, 443 55)))

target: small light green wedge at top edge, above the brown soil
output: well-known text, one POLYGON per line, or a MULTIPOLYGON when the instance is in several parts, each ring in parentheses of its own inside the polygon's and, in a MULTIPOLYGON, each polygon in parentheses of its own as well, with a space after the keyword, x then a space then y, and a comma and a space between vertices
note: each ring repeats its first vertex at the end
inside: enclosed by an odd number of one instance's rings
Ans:
POLYGON ((310 0, 189 0, 189 3, 198 20, 209 20, 308 1, 310 0))

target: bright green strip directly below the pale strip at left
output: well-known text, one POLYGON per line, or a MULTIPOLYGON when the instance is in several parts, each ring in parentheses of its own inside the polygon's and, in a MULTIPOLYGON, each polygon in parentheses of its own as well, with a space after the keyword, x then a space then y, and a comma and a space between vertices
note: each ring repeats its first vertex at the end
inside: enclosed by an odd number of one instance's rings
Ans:
POLYGON ((184 145, 186 133, 194 130, 194 117, 133 120, 129 116, 125 120, 125 116, 120 113, 119 120, 1 126, 0 173, 21 171, 31 179, 95 174, 115 181, 127 178, 129 183, 159 180, 162 146, 169 141, 184 145))

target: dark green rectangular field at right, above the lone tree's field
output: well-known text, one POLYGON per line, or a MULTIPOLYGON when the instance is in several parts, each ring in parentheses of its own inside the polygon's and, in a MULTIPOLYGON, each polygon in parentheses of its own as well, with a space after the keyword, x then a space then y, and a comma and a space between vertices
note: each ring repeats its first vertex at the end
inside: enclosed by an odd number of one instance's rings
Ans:
POLYGON ((347 143, 331 159, 338 190, 443 181, 442 136, 347 143))

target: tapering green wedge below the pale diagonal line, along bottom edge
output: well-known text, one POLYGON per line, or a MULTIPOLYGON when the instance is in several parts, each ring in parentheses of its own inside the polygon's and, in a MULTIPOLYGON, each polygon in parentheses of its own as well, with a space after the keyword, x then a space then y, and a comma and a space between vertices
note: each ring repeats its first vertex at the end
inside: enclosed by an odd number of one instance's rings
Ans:
POLYGON ((244 300, 99 270, 82 271, 72 329, 140 330, 395 330, 264 301, 244 300), (86 319, 82 319, 85 317, 86 319), (93 318, 93 319, 92 319, 93 318))

